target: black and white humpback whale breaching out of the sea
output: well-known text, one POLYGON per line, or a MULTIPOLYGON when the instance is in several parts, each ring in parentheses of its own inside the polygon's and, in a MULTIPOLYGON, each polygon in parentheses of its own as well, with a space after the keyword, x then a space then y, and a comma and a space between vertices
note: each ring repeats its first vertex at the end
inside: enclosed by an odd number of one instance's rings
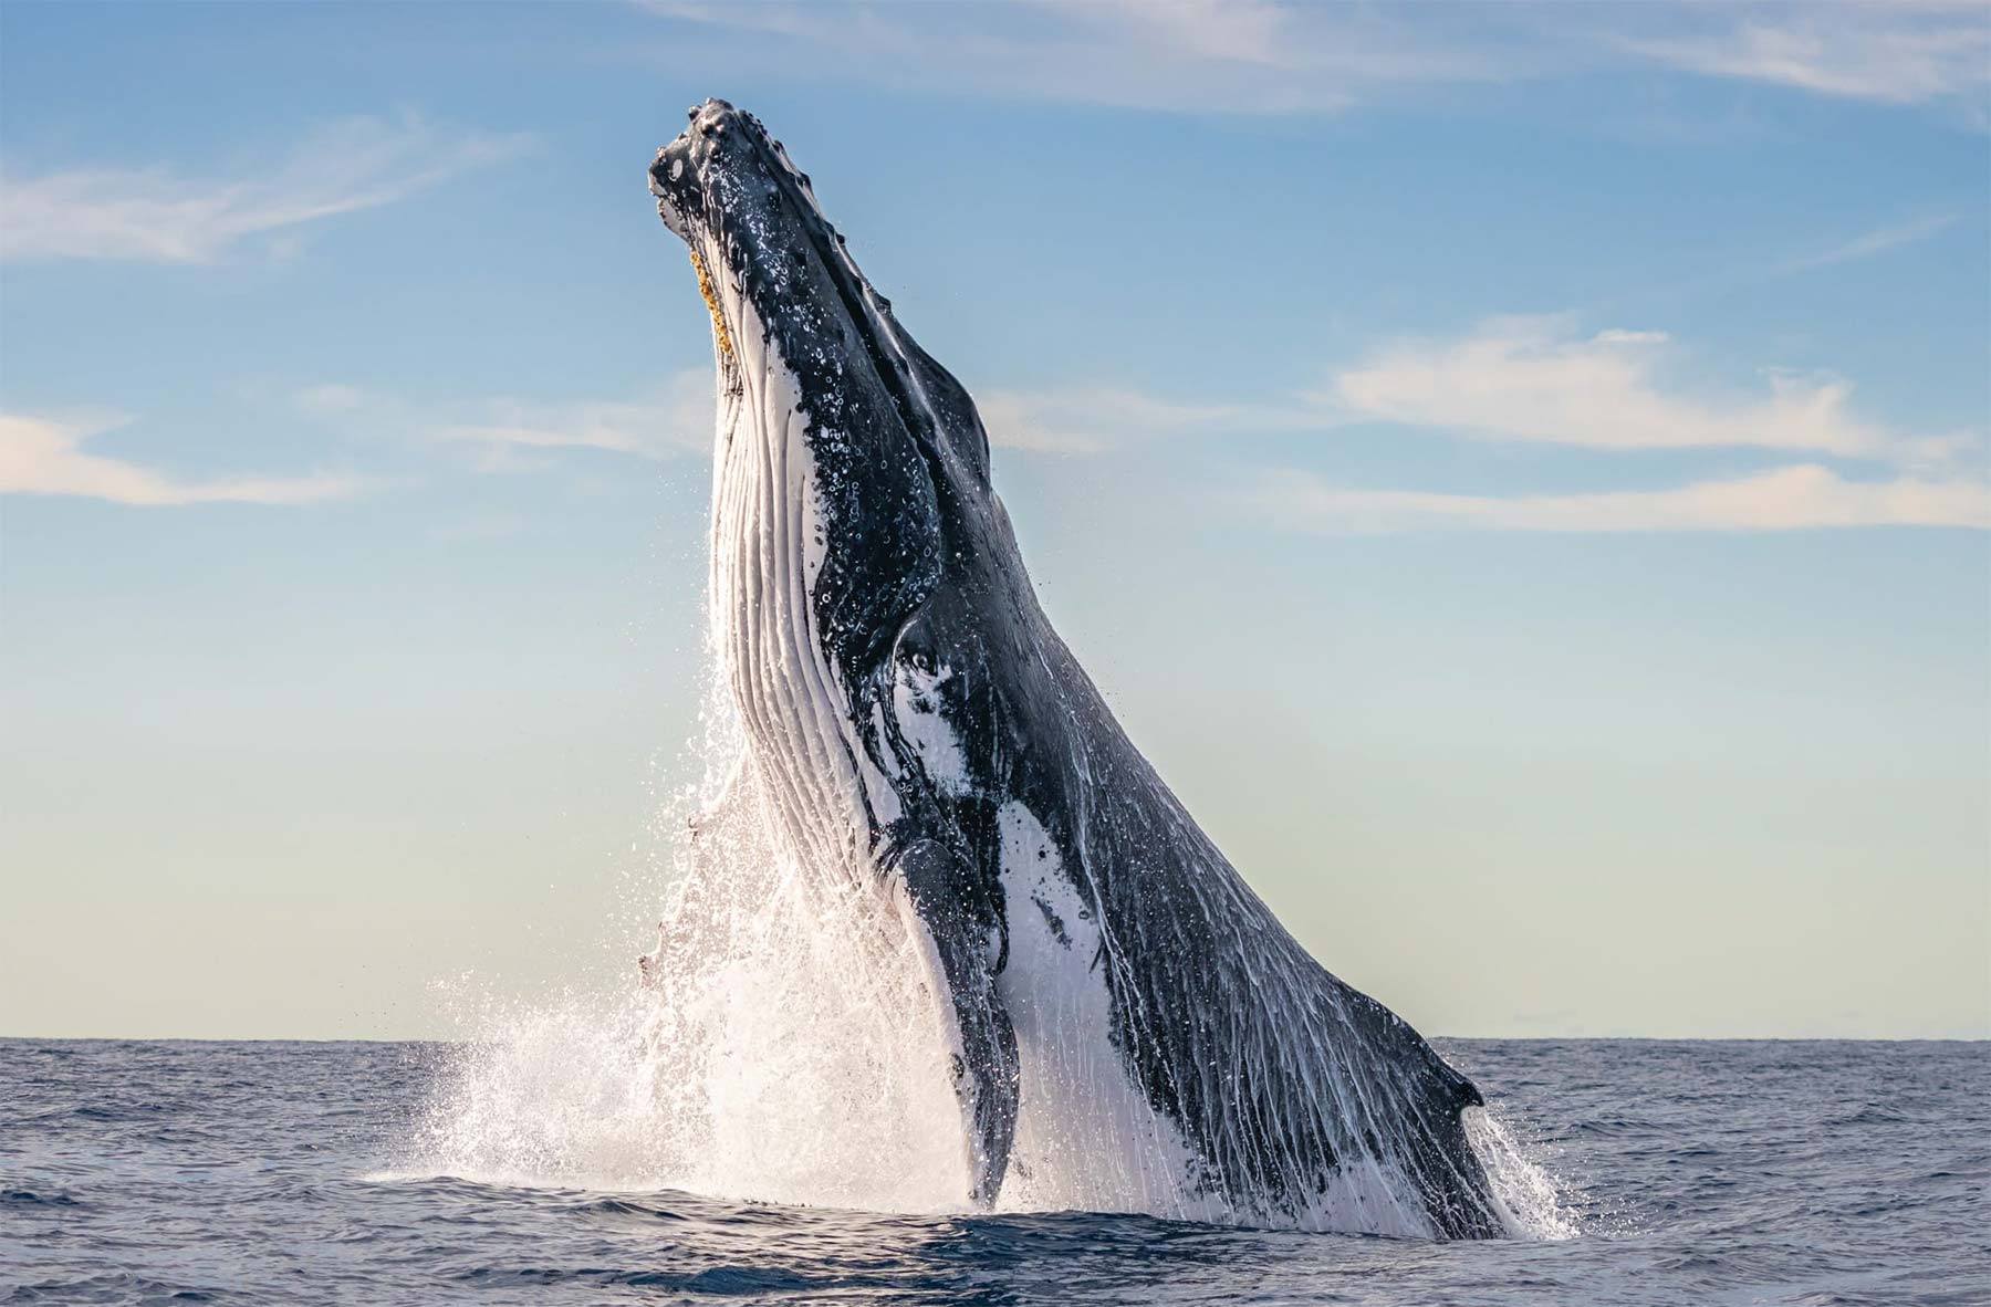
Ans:
POLYGON ((966 1200, 996 1202, 1019 1118, 1063 1096, 1141 1134, 1185 1210, 1505 1233, 1479 1090, 1316 963, 1129 742, 1037 605, 974 402, 808 175, 707 99, 649 187, 711 310, 741 766, 796 865, 910 933, 966 1200))

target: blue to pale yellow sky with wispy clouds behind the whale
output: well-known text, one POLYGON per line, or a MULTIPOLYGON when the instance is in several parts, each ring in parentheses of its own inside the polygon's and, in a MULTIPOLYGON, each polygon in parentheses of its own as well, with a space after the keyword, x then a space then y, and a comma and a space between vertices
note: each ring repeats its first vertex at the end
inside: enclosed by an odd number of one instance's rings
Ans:
POLYGON ((1991 1036, 1987 70, 1969 4, 0 4, 0 1034, 631 967, 711 440, 643 169, 721 95, 1340 977, 1991 1036))

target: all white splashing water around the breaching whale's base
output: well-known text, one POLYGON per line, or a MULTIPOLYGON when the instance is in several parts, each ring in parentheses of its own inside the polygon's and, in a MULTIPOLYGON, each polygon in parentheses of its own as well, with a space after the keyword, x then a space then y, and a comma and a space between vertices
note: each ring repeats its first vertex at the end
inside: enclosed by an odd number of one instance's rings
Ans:
MULTIPOLYGON (((394 1170, 962 1210, 968 1160, 940 1005, 904 927, 882 895, 810 875, 774 845, 717 678, 691 752, 699 784, 659 806, 673 883, 643 973, 532 1003, 474 979, 446 987, 468 1042, 442 1054, 394 1170)), ((1003 1210, 1254 1223, 1183 1192, 1181 1140, 1145 1104, 1079 1092, 1119 1076, 1035 1070, 1003 1210)), ((1515 1235, 1575 1233, 1555 1182, 1497 1118, 1467 1112, 1467 1136, 1515 1235)))

